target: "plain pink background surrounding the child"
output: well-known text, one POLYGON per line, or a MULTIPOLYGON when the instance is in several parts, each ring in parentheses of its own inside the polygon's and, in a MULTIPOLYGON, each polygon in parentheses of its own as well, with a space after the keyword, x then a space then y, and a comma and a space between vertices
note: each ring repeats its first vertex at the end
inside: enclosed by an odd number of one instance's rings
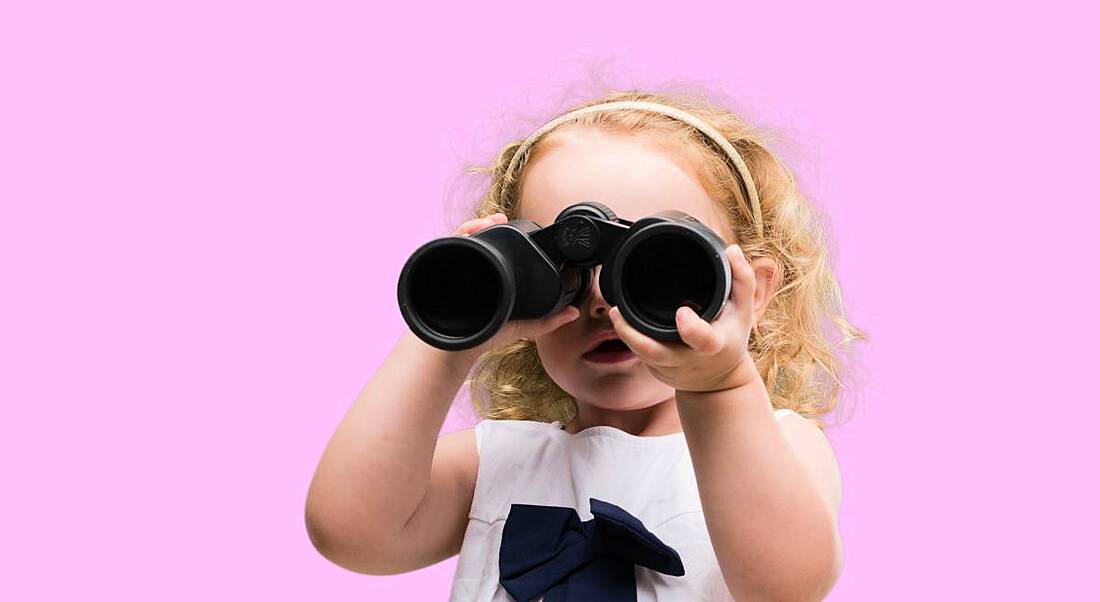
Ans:
POLYGON ((1094 595, 1097 20, 1014 4, 6 2, 0 599, 444 599, 306 491, 462 166, 593 66, 728 95, 828 214, 831 599, 1094 595))

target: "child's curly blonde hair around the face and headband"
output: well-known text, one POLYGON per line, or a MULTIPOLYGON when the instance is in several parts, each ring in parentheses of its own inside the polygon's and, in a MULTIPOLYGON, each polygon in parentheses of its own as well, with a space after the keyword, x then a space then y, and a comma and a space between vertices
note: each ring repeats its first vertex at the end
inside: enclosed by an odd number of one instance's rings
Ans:
MULTIPOLYGON (((629 131, 693 149, 697 176, 710 196, 724 208, 732 231, 751 262, 771 256, 778 264, 777 289, 765 314, 752 327, 748 350, 768 388, 772 406, 792 409, 824 429, 822 417, 833 412, 843 387, 840 351, 864 331, 845 317, 840 288, 827 261, 827 236, 822 217, 799 191, 791 171, 769 152, 762 131, 714 103, 686 94, 616 91, 572 107, 642 100, 675 107, 717 129, 737 149, 756 180, 763 220, 758 233, 736 172, 726 156, 694 128, 659 113, 618 110, 581 116, 570 128, 629 131), (840 332, 836 342, 825 337, 826 321, 840 332)), ((522 140, 509 142, 488 166, 468 174, 488 174, 488 189, 477 199, 475 217, 502 212, 516 218, 522 169, 505 175, 522 140)), ((529 163, 540 143, 519 157, 529 163)), ((470 386, 474 409, 490 419, 570 423, 576 402, 547 374, 535 342, 522 339, 484 353, 475 363, 470 386)))

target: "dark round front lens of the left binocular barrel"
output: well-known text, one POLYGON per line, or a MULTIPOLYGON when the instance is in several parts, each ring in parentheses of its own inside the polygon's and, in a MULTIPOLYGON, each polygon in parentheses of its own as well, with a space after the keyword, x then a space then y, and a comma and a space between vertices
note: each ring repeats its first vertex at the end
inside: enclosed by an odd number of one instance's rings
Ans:
POLYGON ((464 245, 427 251, 409 274, 409 303, 432 331, 470 337, 493 320, 503 297, 496 266, 464 245))

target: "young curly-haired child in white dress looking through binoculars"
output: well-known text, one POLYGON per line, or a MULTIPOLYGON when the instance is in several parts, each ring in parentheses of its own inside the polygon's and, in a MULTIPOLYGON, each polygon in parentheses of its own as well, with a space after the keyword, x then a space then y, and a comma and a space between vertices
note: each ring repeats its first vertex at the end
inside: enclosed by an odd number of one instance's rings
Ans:
POLYGON ((823 599, 843 551, 821 417, 839 347, 865 336, 790 171, 728 111, 637 91, 574 109, 479 171, 491 186, 458 236, 549 226, 585 200, 630 221, 679 209, 727 242, 727 305, 711 322, 681 308, 682 342, 660 342, 608 305, 597 267, 578 307, 474 349, 406 332, 317 468, 316 548, 373 574, 458 552, 460 601, 823 599), (612 338, 628 352, 594 351, 612 338), (440 437, 463 383, 488 419, 440 437))

